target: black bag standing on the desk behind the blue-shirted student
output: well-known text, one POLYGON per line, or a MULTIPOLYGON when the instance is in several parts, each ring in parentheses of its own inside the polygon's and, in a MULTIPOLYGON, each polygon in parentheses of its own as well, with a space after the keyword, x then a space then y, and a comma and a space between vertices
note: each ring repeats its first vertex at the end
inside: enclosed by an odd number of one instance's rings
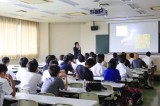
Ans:
POLYGON ((104 87, 100 82, 89 82, 86 83, 86 91, 101 91, 104 87))

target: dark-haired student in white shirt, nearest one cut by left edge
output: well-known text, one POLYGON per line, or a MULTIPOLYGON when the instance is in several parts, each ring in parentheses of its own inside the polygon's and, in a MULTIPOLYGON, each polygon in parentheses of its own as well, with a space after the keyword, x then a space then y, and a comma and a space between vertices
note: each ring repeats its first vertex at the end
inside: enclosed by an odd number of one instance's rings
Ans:
POLYGON ((4 64, 0 64, 0 82, 3 83, 2 90, 6 95, 16 95, 15 85, 12 77, 6 74, 7 67, 4 64))

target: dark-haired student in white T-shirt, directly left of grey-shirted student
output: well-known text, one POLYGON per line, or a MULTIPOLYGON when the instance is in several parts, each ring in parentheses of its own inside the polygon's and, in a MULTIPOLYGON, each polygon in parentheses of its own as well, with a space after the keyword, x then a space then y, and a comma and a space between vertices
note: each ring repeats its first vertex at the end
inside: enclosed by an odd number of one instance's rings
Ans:
POLYGON ((41 84, 42 76, 38 74, 38 62, 33 59, 28 62, 28 72, 21 76, 21 89, 28 90, 30 93, 37 93, 37 86, 41 84))

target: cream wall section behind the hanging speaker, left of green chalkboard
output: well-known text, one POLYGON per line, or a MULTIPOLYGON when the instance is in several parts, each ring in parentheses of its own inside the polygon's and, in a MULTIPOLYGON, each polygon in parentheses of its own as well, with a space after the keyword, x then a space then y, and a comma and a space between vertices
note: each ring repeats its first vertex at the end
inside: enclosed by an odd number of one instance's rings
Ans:
POLYGON ((81 47, 82 53, 96 52, 96 35, 108 34, 108 24, 106 22, 96 22, 99 26, 97 31, 91 31, 92 22, 81 25, 81 47))

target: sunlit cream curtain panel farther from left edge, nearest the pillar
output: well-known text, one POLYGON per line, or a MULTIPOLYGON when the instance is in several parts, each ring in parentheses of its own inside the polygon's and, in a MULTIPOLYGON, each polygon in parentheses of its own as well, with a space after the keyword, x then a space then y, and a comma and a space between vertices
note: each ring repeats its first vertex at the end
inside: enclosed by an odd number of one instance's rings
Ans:
POLYGON ((38 23, 21 21, 20 56, 36 58, 38 56, 38 23))

